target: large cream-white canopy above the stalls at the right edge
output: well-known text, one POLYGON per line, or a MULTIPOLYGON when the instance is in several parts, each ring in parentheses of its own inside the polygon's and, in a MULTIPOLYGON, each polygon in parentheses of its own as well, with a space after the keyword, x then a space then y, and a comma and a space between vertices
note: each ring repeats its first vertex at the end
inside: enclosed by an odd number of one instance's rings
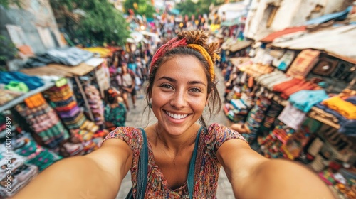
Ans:
POLYGON ((292 50, 308 48, 324 50, 327 53, 337 55, 339 58, 356 63, 356 25, 349 24, 325 28, 320 31, 306 33, 290 41, 274 41, 271 45, 292 50))

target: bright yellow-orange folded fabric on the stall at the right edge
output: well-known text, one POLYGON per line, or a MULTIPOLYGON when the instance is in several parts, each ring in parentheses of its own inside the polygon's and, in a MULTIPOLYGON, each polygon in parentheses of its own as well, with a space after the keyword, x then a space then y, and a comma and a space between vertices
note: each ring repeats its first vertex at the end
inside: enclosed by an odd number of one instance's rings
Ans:
POLYGON ((346 102, 340 96, 325 99, 322 104, 339 112, 347 119, 356 119, 356 106, 351 102, 346 102))

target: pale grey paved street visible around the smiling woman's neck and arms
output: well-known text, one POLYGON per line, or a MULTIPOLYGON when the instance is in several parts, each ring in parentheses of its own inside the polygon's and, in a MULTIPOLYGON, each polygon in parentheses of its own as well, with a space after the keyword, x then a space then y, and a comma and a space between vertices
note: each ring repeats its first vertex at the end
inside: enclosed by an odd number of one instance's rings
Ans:
MULTIPOLYGON (((221 71, 219 69, 216 69, 216 76, 219 77, 219 85, 218 89, 220 92, 220 95, 224 95, 224 78, 221 75, 221 71)), ((143 93, 143 92, 142 92, 143 93)), ((222 99, 221 99, 222 100, 222 99)), ((126 126, 130 127, 146 127, 147 124, 152 124, 155 122, 155 116, 153 114, 150 115, 150 117, 147 117, 147 110, 144 114, 142 114, 143 110, 145 109, 147 103, 145 102, 145 99, 137 99, 136 103, 137 107, 136 109, 130 108, 130 112, 127 114, 127 121, 126 121, 126 126)), ((212 122, 217 122, 219 124, 224 124, 226 126, 229 126, 229 120, 226 118, 224 112, 221 109, 221 112, 219 112, 216 117, 211 118, 208 120, 208 124, 211 124, 212 122)), ((124 178, 124 181, 122 181, 122 185, 120 188, 119 193, 117 194, 116 199, 121 199, 125 198, 127 195, 128 191, 131 188, 131 181, 130 181, 130 172, 127 174, 127 176, 124 178)), ((231 185, 229 183, 229 180, 227 179, 224 169, 221 169, 220 176, 219 176, 219 185, 218 185, 218 192, 217 192, 217 198, 224 198, 224 199, 230 199, 234 198, 234 194, 232 193, 231 190, 231 185)))

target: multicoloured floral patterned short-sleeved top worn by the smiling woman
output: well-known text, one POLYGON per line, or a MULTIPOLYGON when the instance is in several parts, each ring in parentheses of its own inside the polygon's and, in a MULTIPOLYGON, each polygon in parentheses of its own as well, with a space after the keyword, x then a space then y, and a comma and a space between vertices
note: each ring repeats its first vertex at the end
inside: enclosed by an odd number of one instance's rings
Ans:
MULTIPOLYGON (((105 140, 117 138, 125 141, 132 149, 133 162, 131 171, 132 195, 136 195, 137 166, 142 148, 142 133, 134 127, 118 127, 112 131, 105 140)), ((199 148, 194 171, 193 198, 216 198, 220 166, 216 158, 216 152, 221 144, 229 139, 241 139, 246 141, 237 131, 228 129, 221 124, 211 124, 207 131, 201 130, 199 148), (200 153, 200 155, 199 155, 200 153)), ((105 141, 104 140, 104 141, 105 141)), ((180 188, 171 190, 162 171, 155 163, 152 146, 148 144, 148 175, 145 198, 189 198, 187 183, 180 188)))

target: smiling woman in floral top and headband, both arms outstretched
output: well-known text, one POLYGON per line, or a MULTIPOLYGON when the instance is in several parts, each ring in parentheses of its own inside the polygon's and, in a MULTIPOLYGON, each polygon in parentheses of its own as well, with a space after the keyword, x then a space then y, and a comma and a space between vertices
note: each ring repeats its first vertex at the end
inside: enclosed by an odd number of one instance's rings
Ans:
POLYGON ((221 166, 236 198, 333 198, 307 168, 264 158, 237 131, 206 125, 204 109, 221 107, 217 43, 207 38, 184 31, 153 56, 146 99, 157 123, 118 127, 100 149, 53 164, 15 198, 80 198, 83 191, 115 198, 129 170, 133 198, 216 198, 221 166))

